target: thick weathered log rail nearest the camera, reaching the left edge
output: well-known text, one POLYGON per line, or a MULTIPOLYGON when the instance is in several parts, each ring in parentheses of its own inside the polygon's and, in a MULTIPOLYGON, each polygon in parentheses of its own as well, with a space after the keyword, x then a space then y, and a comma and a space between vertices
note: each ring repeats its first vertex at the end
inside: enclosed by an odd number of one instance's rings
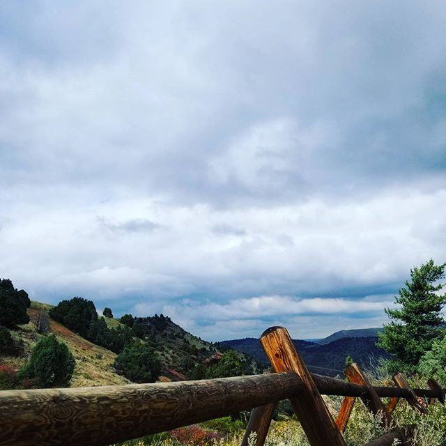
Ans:
POLYGON ((286 399, 295 373, 0 392, 0 445, 109 445, 286 399))

